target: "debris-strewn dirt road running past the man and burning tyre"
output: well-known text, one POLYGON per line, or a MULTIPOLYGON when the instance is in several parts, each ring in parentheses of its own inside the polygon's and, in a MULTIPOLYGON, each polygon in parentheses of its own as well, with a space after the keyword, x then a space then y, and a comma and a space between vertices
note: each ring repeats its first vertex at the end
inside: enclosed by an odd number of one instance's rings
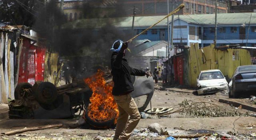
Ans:
MULTIPOLYGON (((225 98, 228 95, 217 93, 205 96, 196 96, 192 94, 192 90, 186 90, 185 92, 171 91, 172 88, 162 88, 156 86, 154 96, 152 98, 152 107, 170 107, 182 102, 184 99, 195 100, 200 99, 206 102, 212 102, 226 108, 234 108, 228 104, 218 102, 219 98, 225 98)), ((182 90, 181 90, 182 91, 182 90)), ((150 104, 148 105, 150 108, 150 104)), ((239 109, 240 112, 246 112, 247 110, 239 109)), ((255 112, 249 112, 255 113, 255 112)), ((178 113, 171 114, 170 118, 158 118, 158 119, 141 119, 136 129, 146 128, 151 123, 157 122, 164 126, 166 130, 177 131, 174 128, 186 129, 203 129, 214 130, 220 132, 237 131, 237 132, 256 132, 256 127, 248 128, 240 126, 240 124, 248 125, 255 124, 255 117, 219 117, 219 118, 189 118, 189 116, 183 116, 178 113), (238 120, 237 120, 238 119, 238 120), (235 121, 236 120, 236 121, 235 121), (234 123, 235 122, 235 123, 234 123)), ((24 134, 35 134, 35 136, 45 136, 47 139, 83 139, 83 138, 95 138, 96 136, 110 137, 114 134, 114 130, 90 130, 76 128, 76 120, 0 120, 0 132, 6 132, 10 130, 21 129, 24 127, 43 126, 47 124, 64 124, 64 128, 38 130, 33 132, 25 132, 24 134)), ((178 130, 180 131, 180 130, 178 130)), ((14 136, 6 136, 6 138, 14 138, 14 136)), ((23 137, 22 137, 23 138, 23 137)), ((27 137, 24 137, 27 138, 27 137)), ((161 138, 160 138, 161 139, 161 138)), ((164 140, 164 138, 162 138, 164 140)))

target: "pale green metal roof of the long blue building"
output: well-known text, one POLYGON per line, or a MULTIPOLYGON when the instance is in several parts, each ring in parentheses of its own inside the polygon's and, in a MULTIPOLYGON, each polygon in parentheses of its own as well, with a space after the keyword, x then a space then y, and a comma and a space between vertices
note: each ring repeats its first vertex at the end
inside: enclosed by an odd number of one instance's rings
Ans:
MULTIPOLYGON (((149 26, 155 24, 165 16, 136 16, 134 20, 135 28, 148 28, 149 26)), ((215 14, 190 14, 190 15, 178 15, 174 16, 174 20, 184 20, 188 23, 202 24, 202 25, 214 25, 215 14)), ((249 23, 256 24, 256 12, 255 13, 220 13, 217 14, 218 24, 243 24, 249 23), (250 15, 252 18, 250 21, 250 15)), ((117 27, 121 28, 131 28, 132 17, 122 17, 122 18, 100 18, 100 19, 82 19, 76 20, 74 22, 68 22, 64 25, 68 28, 100 28, 106 23, 112 23, 117 27)), ((159 27, 167 26, 167 19, 156 25, 159 27)), ((154 28, 154 27, 153 27, 154 28)))

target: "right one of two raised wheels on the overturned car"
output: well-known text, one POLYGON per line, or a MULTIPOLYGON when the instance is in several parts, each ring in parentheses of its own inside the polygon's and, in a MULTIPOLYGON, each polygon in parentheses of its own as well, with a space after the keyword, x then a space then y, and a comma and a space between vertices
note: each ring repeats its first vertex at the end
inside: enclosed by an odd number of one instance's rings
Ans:
POLYGON ((50 82, 42 82, 36 89, 36 100, 42 104, 51 104, 57 96, 57 88, 50 82))

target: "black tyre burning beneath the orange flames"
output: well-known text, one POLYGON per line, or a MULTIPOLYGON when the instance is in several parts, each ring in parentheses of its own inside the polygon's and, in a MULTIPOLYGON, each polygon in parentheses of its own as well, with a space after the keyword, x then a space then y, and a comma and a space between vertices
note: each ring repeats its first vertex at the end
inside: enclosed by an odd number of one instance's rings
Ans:
POLYGON ((116 124, 114 124, 115 116, 105 122, 96 122, 88 116, 89 110, 90 110, 90 106, 88 108, 86 108, 86 110, 84 112, 84 119, 86 120, 86 123, 88 123, 90 126, 92 126, 94 128, 114 128, 116 126, 116 124))

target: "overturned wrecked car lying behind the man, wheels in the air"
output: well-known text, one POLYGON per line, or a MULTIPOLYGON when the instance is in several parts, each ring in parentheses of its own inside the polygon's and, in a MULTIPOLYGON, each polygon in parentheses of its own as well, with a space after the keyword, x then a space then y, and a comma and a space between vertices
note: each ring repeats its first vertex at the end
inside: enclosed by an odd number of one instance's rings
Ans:
MULTIPOLYGON (((142 112, 153 96, 154 82, 152 78, 133 77, 133 83, 134 92, 131 95, 142 112)), ((81 113, 86 109, 92 90, 83 80, 60 87, 50 82, 37 81, 33 86, 28 83, 18 84, 14 95, 15 100, 9 103, 9 118, 60 119, 72 118, 78 111, 81 113)))

